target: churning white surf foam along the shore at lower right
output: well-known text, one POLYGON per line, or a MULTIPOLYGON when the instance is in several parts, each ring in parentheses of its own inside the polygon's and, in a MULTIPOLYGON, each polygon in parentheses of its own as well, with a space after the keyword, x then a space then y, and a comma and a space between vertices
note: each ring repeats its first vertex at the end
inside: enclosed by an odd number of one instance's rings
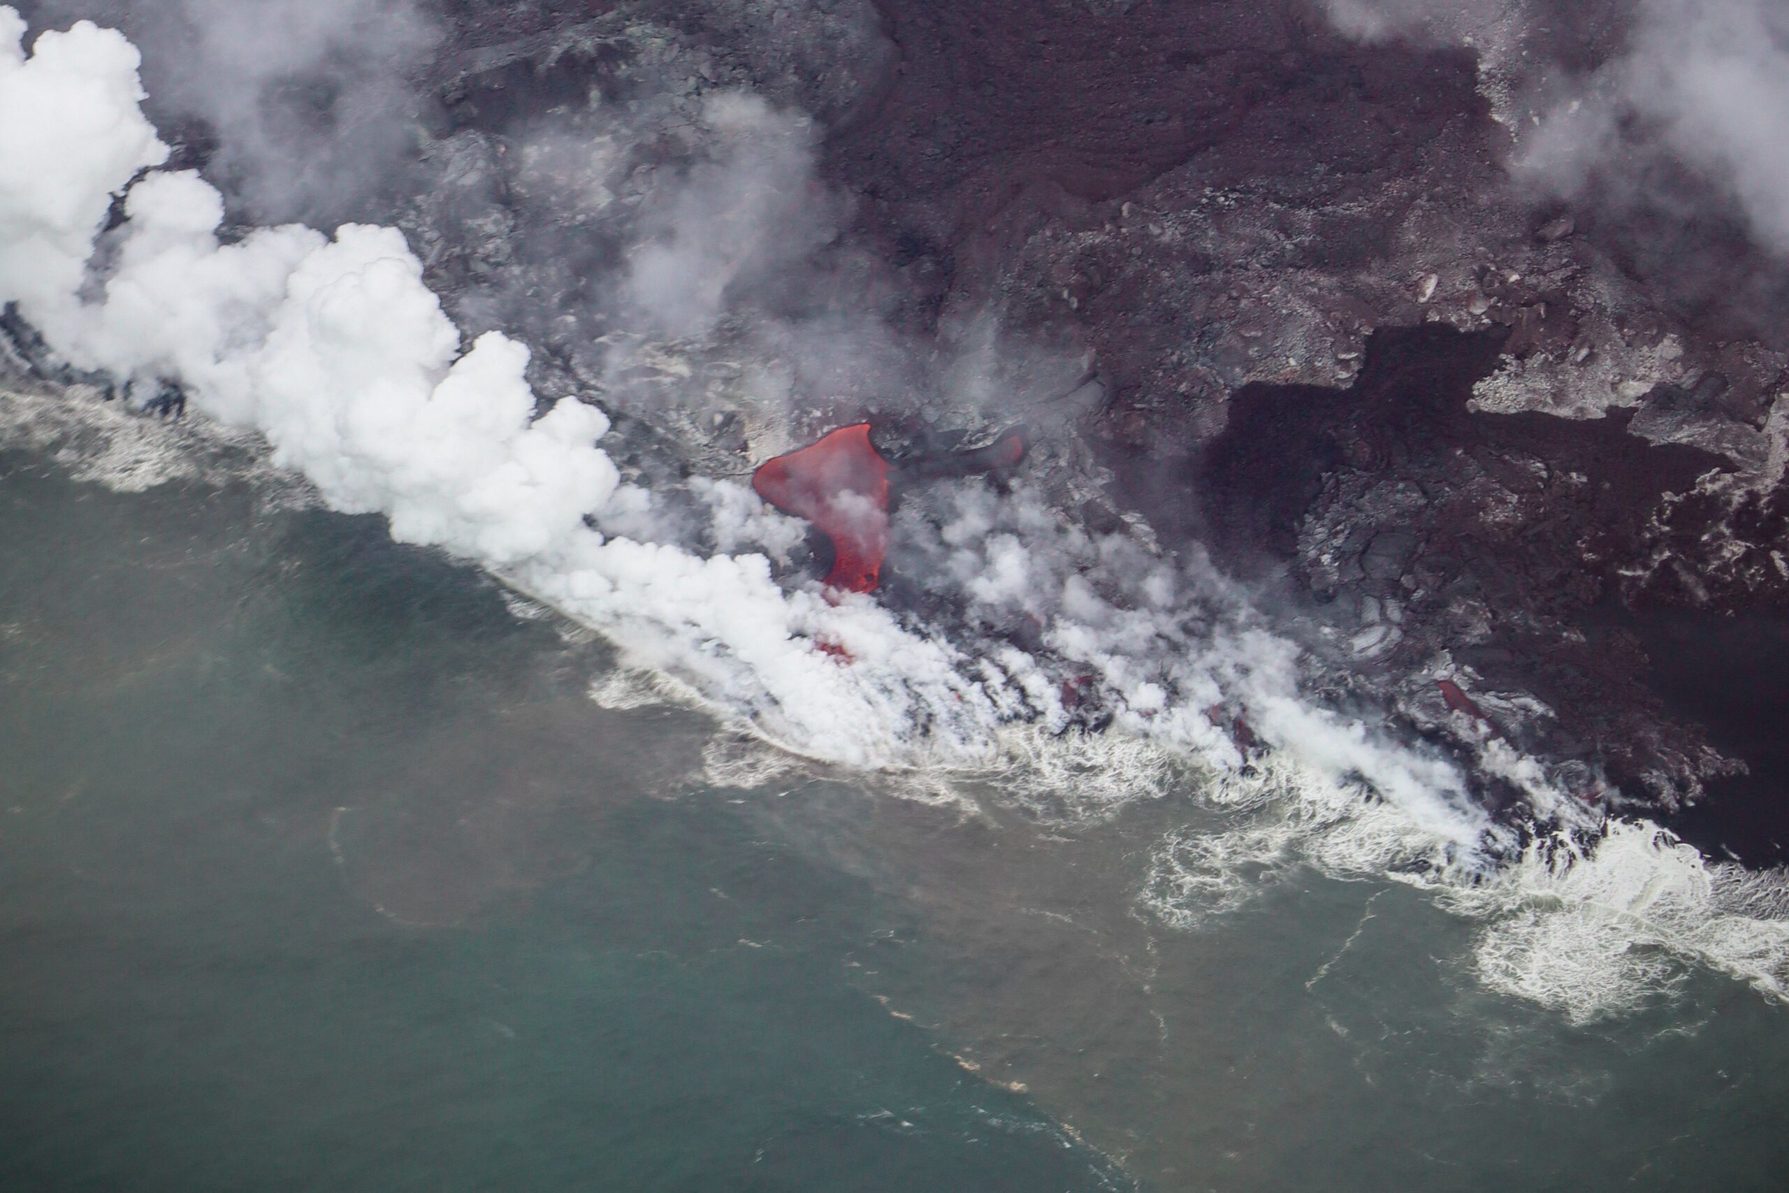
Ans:
POLYGON ((1610 821, 1590 844, 1562 833, 1476 867, 1401 808, 1270 758, 1208 801, 1229 819, 1166 833, 1140 893, 1170 926, 1215 925, 1304 866, 1428 891, 1481 925, 1472 964, 1488 989, 1573 1023, 1671 1002, 1698 964, 1789 1002, 1789 873, 1712 864, 1649 821, 1610 821))

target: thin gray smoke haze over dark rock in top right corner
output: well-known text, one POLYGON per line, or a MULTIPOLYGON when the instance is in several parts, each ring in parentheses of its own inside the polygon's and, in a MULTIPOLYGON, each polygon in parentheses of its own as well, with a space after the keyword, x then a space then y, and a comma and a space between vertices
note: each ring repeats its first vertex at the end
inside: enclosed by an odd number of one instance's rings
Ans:
MULTIPOLYGON (((1685 213, 1685 168, 1789 256, 1789 5, 1782 0, 1621 0, 1576 21, 1547 0, 1324 0, 1363 41, 1480 50, 1506 93, 1515 170, 1565 199, 1685 213), (1594 32, 1590 32, 1594 29, 1594 32), (1671 193, 1666 193, 1666 191, 1671 193)), ((1580 5, 1589 7, 1589 5, 1580 5)))

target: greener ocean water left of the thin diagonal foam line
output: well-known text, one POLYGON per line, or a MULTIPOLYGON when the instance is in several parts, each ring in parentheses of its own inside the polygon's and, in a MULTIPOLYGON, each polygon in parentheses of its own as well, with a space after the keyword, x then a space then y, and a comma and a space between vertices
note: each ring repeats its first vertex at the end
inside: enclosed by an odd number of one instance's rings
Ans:
POLYGON ((0 519, 0 1188, 1123 1184, 476 572, 18 456, 0 519))

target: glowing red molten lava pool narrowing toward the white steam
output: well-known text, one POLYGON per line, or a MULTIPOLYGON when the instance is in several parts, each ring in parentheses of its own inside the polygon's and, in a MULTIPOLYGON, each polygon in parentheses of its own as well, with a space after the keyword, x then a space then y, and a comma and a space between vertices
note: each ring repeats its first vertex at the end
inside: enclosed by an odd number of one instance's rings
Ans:
POLYGON ((877 587, 889 547, 889 461, 871 445, 868 422, 766 461, 751 474, 751 488, 832 540, 828 585, 848 592, 877 587))

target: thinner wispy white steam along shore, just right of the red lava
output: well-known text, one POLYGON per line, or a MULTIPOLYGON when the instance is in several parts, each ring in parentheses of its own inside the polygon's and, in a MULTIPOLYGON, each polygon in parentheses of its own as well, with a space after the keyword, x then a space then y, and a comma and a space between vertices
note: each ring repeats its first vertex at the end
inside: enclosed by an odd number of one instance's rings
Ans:
MULTIPOLYGON (((971 624, 995 635, 1022 619, 1039 626, 1043 646, 1097 683, 1120 730, 1229 767, 1242 755, 1227 728, 1242 715, 1311 771, 1351 787, 1365 780, 1431 839, 1485 833, 1451 764, 1304 699, 1297 647, 1268 631, 1202 553, 1168 560, 1129 535, 1091 535, 1025 485, 998 499, 980 483, 939 485, 909 501, 894 529, 909 553, 930 547, 923 571, 968 597, 971 624), (927 519, 943 528, 932 544, 916 526, 927 519)), ((1041 714, 1052 728, 1068 721, 1072 694, 1025 651, 995 639, 979 665, 1014 712, 1041 714)))

